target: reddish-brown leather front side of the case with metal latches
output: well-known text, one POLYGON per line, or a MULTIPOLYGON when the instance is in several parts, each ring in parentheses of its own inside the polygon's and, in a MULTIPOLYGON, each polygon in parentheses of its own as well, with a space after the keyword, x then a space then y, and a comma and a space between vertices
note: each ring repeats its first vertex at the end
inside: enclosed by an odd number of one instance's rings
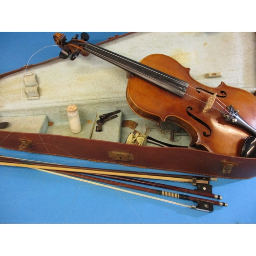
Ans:
POLYGON ((47 155, 65 156, 142 168, 248 179, 256 176, 255 158, 228 157, 188 148, 140 146, 67 136, 0 132, 1 146, 47 155))

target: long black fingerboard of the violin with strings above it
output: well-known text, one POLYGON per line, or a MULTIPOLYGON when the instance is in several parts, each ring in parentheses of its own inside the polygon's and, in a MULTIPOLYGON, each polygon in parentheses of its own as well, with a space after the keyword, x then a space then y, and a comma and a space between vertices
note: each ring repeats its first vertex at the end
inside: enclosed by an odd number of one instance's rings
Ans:
POLYGON ((145 66, 140 62, 126 58, 99 46, 87 43, 83 49, 180 97, 184 96, 188 87, 188 83, 183 80, 162 73, 156 69, 145 66))

